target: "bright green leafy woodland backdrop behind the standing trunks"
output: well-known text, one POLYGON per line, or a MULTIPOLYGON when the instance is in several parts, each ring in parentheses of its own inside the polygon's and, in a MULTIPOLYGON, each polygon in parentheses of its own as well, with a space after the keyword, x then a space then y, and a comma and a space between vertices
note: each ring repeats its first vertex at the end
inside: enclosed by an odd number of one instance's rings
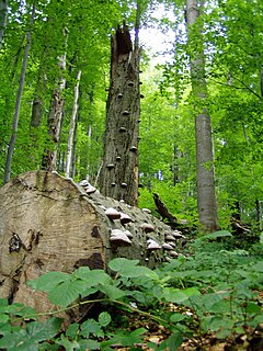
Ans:
MULTIPOLYGON (((55 147, 47 120, 59 84, 65 87, 57 171, 66 173, 79 81, 69 176, 96 185, 103 155, 111 35, 124 19, 133 33, 138 4, 140 33, 147 33, 149 42, 155 43, 157 31, 169 33, 165 53, 153 57, 145 47, 140 60, 145 98, 140 103, 139 206, 153 211, 152 193, 159 193, 176 218, 197 224, 195 97, 190 57, 198 43, 195 47, 187 42, 184 1, 0 1, 0 179, 3 183, 13 135, 11 177, 42 169, 45 150, 55 147)), ((228 228, 236 216, 261 228, 263 4, 260 0, 218 0, 203 5, 199 21, 208 90, 205 107, 213 125, 220 227, 228 228)))

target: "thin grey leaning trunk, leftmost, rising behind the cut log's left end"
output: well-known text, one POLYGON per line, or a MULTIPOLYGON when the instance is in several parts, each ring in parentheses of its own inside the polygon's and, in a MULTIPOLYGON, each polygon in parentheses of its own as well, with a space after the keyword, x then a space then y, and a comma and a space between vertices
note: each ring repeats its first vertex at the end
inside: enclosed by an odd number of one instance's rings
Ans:
POLYGON ((15 110, 14 110, 14 115, 13 115, 12 135, 11 135, 10 141, 9 141, 8 157, 7 157, 5 169, 4 169, 4 183, 9 182, 9 180, 11 178, 11 163, 12 163, 14 144, 15 144, 16 134, 18 134, 20 106, 21 106, 21 100, 22 100, 22 94, 23 94, 23 89, 24 89, 25 72, 26 72, 26 66, 27 66, 27 61, 28 61, 28 53, 30 53, 30 47, 31 47, 31 31, 32 31, 32 25, 34 23, 34 18, 35 18, 35 3, 33 4, 33 8, 32 8, 30 29, 26 33, 26 44, 25 44, 25 49, 24 49, 24 58, 23 58, 23 63, 22 63, 20 83, 19 83, 19 90, 18 90, 18 95, 16 95, 16 102, 15 102, 15 110))

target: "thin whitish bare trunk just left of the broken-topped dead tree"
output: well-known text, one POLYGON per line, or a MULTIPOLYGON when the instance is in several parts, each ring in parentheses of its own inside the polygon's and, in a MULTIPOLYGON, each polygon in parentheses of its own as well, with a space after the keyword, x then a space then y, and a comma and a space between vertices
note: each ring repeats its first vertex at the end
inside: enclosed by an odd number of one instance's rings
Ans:
POLYGON ((68 136, 66 177, 70 177, 71 176, 72 155, 73 155, 73 136, 75 136, 75 129, 76 129, 76 117, 77 117, 77 112, 78 112, 80 77, 81 77, 81 70, 78 71, 77 82, 76 82, 76 86, 75 86, 73 109, 72 109, 72 113, 71 113, 71 117, 70 117, 70 127, 69 127, 69 136, 68 136))

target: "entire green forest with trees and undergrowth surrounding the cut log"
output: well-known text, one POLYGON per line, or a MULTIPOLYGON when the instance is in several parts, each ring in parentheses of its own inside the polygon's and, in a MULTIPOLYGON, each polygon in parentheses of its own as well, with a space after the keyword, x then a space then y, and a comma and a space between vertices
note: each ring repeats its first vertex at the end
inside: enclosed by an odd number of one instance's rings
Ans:
POLYGON ((0 298, 1 350, 263 349, 262 53, 261 0, 0 0, 0 185, 87 181, 185 239, 30 281, 45 322, 0 298))

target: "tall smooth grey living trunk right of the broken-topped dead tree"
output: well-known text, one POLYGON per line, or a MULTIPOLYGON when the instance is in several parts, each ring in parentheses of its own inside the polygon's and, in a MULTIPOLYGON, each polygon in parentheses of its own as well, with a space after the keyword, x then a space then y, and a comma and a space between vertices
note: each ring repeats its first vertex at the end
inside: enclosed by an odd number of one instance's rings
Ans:
POLYGON ((197 171, 197 203, 199 223, 203 230, 214 231, 219 228, 215 196, 214 147, 210 116, 205 107, 207 87, 205 80, 205 55, 201 29, 197 19, 203 8, 197 0, 187 0, 186 22, 188 45, 191 47, 191 80, 195 101, 195 139, 197 171))

